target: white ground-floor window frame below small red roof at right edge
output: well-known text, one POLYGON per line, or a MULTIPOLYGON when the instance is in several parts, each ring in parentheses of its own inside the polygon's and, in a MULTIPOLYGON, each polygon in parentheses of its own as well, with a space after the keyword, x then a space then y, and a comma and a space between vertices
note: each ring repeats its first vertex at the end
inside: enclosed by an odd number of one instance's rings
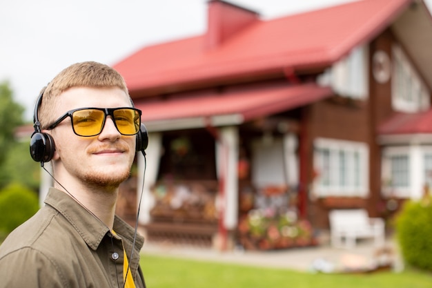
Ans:
POLYGON ((409 198, 420 199, 423 194, 425 177, 425 156, 432 155, 432 146, 397 146, 386 147, 382 152, 382 195, 385 198, 409 198), (397 185, 392 180, 392 159, 395 157, 407 157, 408 167, 405 177, 406 185, 397 185))

